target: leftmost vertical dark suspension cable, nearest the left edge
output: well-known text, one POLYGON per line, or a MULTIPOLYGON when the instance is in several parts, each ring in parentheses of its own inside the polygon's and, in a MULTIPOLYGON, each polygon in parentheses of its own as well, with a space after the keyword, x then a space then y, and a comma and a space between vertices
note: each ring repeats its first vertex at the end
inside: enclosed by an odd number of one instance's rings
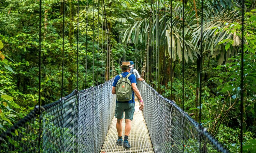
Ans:
MULTIPOLYGON (((39 114, 41 114, 41 29, 42 29, 42 0, 39 1, 39 114)), ((42 119, 39 117, 39 140, 38 140, 38 152, 40 153, 41 143, 41 122, 42 119)))

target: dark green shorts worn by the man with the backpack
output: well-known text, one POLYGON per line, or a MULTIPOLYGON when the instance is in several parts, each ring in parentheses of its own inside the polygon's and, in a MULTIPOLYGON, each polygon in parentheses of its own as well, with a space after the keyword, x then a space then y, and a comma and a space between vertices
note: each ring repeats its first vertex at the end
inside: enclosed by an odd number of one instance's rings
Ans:
POLYGON ((124 118, 125 112, 125 119, 132 120, 133 113, 135 111, 135 103, 116 103, 115 109, 115 118, 122 119, 124 118))

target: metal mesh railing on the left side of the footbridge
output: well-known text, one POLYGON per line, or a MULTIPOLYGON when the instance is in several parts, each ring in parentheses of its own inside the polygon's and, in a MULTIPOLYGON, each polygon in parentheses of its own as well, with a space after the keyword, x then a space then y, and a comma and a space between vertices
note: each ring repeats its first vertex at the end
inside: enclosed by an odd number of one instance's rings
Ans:
POLYGON ((73 91, 62 102, 42 106, 40 114, 35 107, 0 135, 1 152, 100 152, 114 116, 113 81, 73 91))

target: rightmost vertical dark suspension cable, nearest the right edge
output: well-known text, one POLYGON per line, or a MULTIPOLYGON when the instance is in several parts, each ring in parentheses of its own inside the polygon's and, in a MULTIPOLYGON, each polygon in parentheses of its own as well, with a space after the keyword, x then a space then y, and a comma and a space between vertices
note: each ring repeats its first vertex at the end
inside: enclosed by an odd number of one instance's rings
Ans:
POLYGON ((240 125, 240 152, 243 152, 243 102, 244 102, 244 0, 242 0, 242 49, 241 49, 241 125, 240 125))

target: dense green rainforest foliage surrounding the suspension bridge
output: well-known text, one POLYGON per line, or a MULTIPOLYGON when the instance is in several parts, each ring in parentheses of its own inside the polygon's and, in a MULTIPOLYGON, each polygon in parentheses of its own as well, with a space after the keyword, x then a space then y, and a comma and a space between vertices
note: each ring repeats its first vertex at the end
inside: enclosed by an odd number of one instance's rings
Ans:
MULTIPOLYGON (((150 26, 146 82, 182 106, 184 49, 185 111, 195 114, 192 117, 198 120, 201 107, 202 125, 232 152, 239 151, 239 127, 243 124, 244 151, 255 152, 256 4, 245 0, 243 89, 240 82, 241 4, 240 0, 204 0, 201 40, 200 0, 185 1, 184 18, 182 1, 166 1, 166 12, 163 0, 153 1, 150 25, 151 1, 107 0, 105 23, 102 1, 80 0, 78 89, 104 83, 113 77, 106 72, 109 69, 105 62, 109 59, 107 26, 118 73, 121 72, 118 65, 130 60, 141 72, 150 26), (200 81, 201 106, 198 102, 200 81), (244 91, 243 121, 240 117, 241 90, 244 91)), ((62 33, 64 95, 77 86, 77 0, 66 0, 63 6, 61 0, 42 0, 43 104, 61 97, 62 33)), ((0 40, 0 132, 3 132, 38 104, 39 0, 0 1, 0 40)))

